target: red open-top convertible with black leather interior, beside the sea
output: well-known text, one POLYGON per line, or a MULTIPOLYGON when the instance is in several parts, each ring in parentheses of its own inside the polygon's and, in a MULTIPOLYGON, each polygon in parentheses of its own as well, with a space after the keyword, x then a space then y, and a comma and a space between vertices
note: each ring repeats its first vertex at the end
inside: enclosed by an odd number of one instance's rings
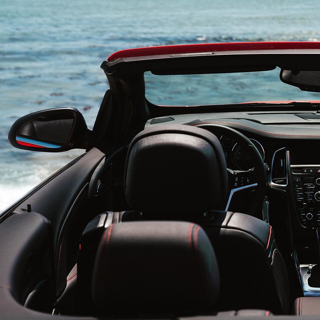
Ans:
POLYGON ((127 49, 92 130, 74 108, 18 119, 16 148, 85 152, 0 214, 0 315, 319 318, 319 54, 127 49))

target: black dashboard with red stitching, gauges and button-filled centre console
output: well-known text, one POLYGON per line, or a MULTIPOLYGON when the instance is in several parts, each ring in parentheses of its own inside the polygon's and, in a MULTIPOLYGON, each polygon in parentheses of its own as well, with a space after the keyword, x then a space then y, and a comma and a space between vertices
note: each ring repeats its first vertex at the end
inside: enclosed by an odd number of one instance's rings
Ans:
MULTIPOLYGON (((171 115, 150 119, 145 127, 163 123, 225 125, 250 139, 266 166, 272 227, 282 221, 285 227, 278 234, 292 237, 300 262, 316 259, 318 227, 320 232, 320 114, 316 110, 171 115)), ((252 169, 252 160, 237 141, 219 132, 216 136, 228 169, 252 169)))

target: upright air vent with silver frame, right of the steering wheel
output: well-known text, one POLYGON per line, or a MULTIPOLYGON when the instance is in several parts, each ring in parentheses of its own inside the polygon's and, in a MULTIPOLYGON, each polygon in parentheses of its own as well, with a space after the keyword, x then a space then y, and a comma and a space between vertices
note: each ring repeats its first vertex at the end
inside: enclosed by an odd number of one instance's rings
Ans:
POLYGON ((285 148, 281 148, 273 154, 270 180, 272 183, 280 186, 288 184, 287 151, 285 148))

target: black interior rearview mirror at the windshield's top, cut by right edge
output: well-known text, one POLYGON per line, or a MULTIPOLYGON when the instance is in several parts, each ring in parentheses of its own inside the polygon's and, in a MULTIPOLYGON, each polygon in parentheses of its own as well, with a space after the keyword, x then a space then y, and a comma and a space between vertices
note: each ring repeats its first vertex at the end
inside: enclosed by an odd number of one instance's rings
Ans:
POLYGON ((281 69, 280 80, 302 91, 320 92, 320 71, 281 69))

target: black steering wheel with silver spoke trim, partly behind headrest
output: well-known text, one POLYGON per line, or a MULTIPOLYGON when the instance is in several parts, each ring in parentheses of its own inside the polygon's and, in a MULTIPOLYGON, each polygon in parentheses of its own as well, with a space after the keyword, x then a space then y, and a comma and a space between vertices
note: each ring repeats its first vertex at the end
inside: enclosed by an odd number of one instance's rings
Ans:
POLYGON ((228 211, 232 197, 239 191, 244 189, 254 189, 254 197, 248 207, 246 214, 255 216, 259 219, 262 218, 262 203, 266 195, 267 189, 267 173, 263 162, 263 159, 254 146, 254 144, 242 133, 235 129, 229 128, 219 124, 198 124, 196 127, 208 130, 213 134, 219 133, 225 135, 232 140, 237 141, 244 152, 246 152, 252 159, 254 169, 248 171, 233 171, 228 170, 228 190, 229 197, 228 203, 226 204, 225 211, 228 211), (231 175, 231 177, 230 177, 231 175))

